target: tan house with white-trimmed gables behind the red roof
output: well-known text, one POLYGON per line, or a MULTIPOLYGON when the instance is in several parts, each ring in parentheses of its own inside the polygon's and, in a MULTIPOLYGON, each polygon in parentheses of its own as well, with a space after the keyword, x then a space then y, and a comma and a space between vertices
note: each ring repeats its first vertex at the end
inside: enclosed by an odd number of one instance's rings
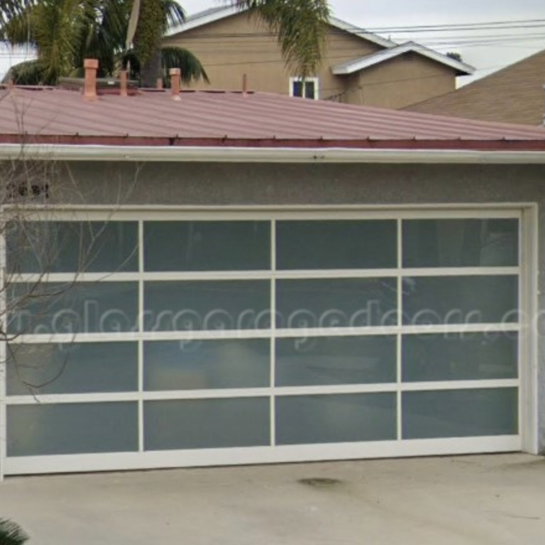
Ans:
POLYGON ((227 6, 197 13, 173 28, 163 44, 196 53, 210 84, 193 89, 241 89, 243 74, 255 91, 399 109, 456 89, 473 68, 413 42, 398 45, 331 18, 319 73, 301 82, 287 68, 275 35, 227 6))

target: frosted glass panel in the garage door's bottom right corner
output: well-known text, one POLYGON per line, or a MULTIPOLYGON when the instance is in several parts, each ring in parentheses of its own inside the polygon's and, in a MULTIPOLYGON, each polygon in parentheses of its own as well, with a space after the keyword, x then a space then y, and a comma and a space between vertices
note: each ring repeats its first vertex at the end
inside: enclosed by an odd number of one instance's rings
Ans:
POLYGON ((516 435, 517 388, 404 392, 403 439, 516 435))

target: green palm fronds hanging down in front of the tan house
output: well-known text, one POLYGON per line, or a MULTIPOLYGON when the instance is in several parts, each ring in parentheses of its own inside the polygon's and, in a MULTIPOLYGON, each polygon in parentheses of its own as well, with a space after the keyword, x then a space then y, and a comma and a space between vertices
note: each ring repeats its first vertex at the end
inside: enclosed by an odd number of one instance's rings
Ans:
POLYGON ((286 64, 300 76, 316 72, 326 44, 327 0, 231 0, 231 4, 255 13, 277 34, 286 64))

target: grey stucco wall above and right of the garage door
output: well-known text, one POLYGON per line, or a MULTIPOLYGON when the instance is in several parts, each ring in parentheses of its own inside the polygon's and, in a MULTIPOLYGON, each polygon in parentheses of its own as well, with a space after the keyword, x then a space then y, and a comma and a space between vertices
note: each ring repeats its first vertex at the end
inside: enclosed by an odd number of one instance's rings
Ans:
MULTIPOLYGON (((539 204, 545 238, 545 166, 74 163, 62 197, 84 204, 539 204), (78 189, 74 187, 74 182, 78 189), (123 196, 123 197, 120 197, 123 196)), ((61 176, 62 178, 62 176, 61 176)), ((545 292, 545 252, 539 255, 545 292)), ((545 295, 539 296, 545 311, 545 295)), ((539 338, 540 448, 545 450, 545 342, 539 338)))

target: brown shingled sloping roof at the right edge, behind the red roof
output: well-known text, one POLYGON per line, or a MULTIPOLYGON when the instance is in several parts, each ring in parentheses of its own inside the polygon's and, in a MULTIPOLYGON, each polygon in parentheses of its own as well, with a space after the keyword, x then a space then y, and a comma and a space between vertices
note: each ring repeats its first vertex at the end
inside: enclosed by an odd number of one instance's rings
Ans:
POLYGON ((545 50, 441 97, 407 109, 466 119, 540 125, 545 118, 545 50))

